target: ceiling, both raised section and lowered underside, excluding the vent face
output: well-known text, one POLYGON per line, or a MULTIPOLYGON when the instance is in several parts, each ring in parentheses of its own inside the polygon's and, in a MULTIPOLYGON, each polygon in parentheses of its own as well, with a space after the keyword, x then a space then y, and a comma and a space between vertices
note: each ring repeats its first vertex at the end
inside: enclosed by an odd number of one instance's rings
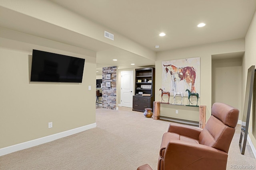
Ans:
MULTIPOLYGON (((244 38, 256 10, 256 0, 49 1, 98 25, 110 28, 154 53, 244 38), (206 26, 197 27, 202 22, 206 23, 206 26), (161 32, 166 33, 166 36, 160 37, 159 33, 161 32), (160 48, 155 48, 155 45, 160 45, 160 48)), ((98 70, 104 66, 118 66, 120 69, 127 69, 150 66, 155 63, 152 59, 146 59, 130 51, 18 12, 5 8, 1 8, 0 11, 0 27, 96 51, 98 70), (28 25, 19 22, 15 19, 17 16, 36 24, 28 25), (10 22, 12 19, 13 22, 10 22), (31 29, 36 25, 37 29, 31 29), (50 30, 53 29, 55 33, 59 34, 52 34, 50 30), (76 37, 80 41, 72 41, 70 37, 76 37), (112 61, 112 59, 118 59, 118 61, 112 61), (131 63, 135 63, 135 65, 132 66, 131 63)))

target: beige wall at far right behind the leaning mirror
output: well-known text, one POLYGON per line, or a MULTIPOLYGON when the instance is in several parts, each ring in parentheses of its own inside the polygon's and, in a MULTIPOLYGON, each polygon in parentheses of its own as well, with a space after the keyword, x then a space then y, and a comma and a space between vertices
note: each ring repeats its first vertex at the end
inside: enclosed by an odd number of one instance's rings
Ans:
MULTIPOLYGON (((248 68, 252 65, 256 65, 256 13, 254 14, 251 25, 245 37, 245 54, 242 64, 242 106, 244 105, 247 72, 248 68)), ((255 104, 253 105, 255 106, 255 104)), ((248 132, 252 144, 254 145, 254 148, 256 148, 256 125, 254 125, 256 123, 256 119, 255 117, 253 119, 252 114, 255 113, 252 113, 251 111, 248 132)))

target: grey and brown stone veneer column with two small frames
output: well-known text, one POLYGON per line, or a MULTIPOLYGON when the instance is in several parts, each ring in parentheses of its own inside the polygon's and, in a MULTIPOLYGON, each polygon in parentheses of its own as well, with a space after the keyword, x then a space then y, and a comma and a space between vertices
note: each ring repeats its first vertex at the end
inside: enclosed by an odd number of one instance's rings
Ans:
POLYGON ((116 68, 102 68, 102 108, 116 110, 116 68), (106 79, 106 74, 111 74, 111 79, 106 79), (111 87, 106 87, 106 82, 111 82, 111 87))

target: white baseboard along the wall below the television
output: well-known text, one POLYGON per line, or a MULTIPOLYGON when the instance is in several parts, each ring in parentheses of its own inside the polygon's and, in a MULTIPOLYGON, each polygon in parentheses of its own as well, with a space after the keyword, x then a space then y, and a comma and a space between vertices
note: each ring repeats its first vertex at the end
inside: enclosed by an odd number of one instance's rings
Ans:
POLYGON ((70 135, 74 135, 76 133, 86 131, 88 129, 92 129, 94 127, 96 127, 96 123, 92 123, 90 125, 86 125, 86 126, 78 127, 78 128, 71 129, 71 130, 68 130, 68 131, 56 133, 54 135, 41 137, 41 138, 38 138, 38 139, 34 139, 32 141, 19 143, 19 144, 16 144, 16 145, 12 145, 10 147, 1 148, 0 149, 0 156, 6 155, 6 154, 9 154, 9 153, 12 153, 12 152, 16 152, 18 150, 23 150, 23 149, 35 147, 37 145, 41 145, 41 144, 44 144, 44 143, 47 143, 47 142, 50 142, 50 141, 54 141, 56 139, 60 139, 60 138, 63 138, 63 137, 67 137, 67 136, 70 136, 70 135))

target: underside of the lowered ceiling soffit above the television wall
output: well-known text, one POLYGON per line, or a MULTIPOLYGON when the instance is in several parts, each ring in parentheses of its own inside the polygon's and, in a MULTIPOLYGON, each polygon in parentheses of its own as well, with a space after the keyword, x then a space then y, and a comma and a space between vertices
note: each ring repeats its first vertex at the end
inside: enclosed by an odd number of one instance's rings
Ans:
MULTIPOLYGON (((10 29, 9 32, 12 30, 13 32, 16 32, 14 34, 3 34, 2 37, 14 39, 17 41, 23 41, 26 43, 32 43, 32 44, 40 44, 41 41, 38 41, 34 37, 41 37, 44 39, 49 39, 56 42, 61 42, 67 45, 73 45, 75 47, 80 47, 82 49, 89 49, 95 52, 99 52, 98 55, 98 64, 101 64, 101 66, 113 66, 113 65, 122 65, 121 67, 128 67, 130 68, 130 64, 127 64, 129 60, 134 61, 144 61, 140 63, 150 63, 151 65, 154 65, 154 61, 150 59, 146 59, 144 57, 141 57, 139 55, 135 55, 129 51, 120 49, 118 47, 114 47, 113 45, 109 45, 107 43, 98 41, 96 39, 87 37, 85 35, 81 35, 77 32, 70 31, 68 29, 65 29, 63 27, 59 27, 57 25, 38 20, 36 18, 21 14, 19 12, 15 12, 13 10, 4 8, 0 6, 0 27, 2 29, 10 29), (2 17, 3 16, 3 17, 2 17), (11 22, 10 22, 11 21, 11 22), (14 31, 16 30, 16 31, 14 31), (17 36, 18 32, 20 32, 20 35, 27 34, 27 37, 24 38, 24 36, 17 36), (64 36, 65 35, 65 36, 64 36), (30 38, 28 38, 30 36, 30 38), (104 55, 104 51, 107 51, 107 53, 104 55), (123 51, 123 52, 122 52, 123 51), (125 56, 120 56, 125 55, 125 56), (132 57, 134 56, 134 57, 132 57), (110 60, 108 58, 110 57, 110 60), (120 58, 121 57, 121 58, 120 58), (113 62, 111 58, 118 58, 118 62, 113 62), (126 62, 125 62, 126 61, 126 62), (124 66, 126 63, 127 66, 124 66)), ((103 33, 102 33, 103 37, 103 33)), ((96 56, 95 56, 96 57, 96 56)), ((139 64, 142 65, 142 64, 139 64)))

